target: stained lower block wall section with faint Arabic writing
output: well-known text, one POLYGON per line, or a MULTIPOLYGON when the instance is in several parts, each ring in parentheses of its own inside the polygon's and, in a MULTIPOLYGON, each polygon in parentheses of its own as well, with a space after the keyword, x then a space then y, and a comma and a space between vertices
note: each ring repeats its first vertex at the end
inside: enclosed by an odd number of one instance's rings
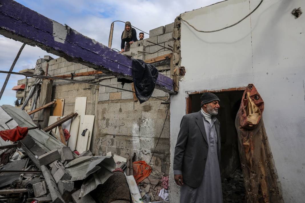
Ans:
MULTIPOLYGON (((156 147, 169 105, 150 99, 140 104, 131 100, 99 102, 97 105, 94 153, 107 152, 149 163, 156 147)), ((152 157, 152 166, 160 172, 169 172, 169 114, 159 144, 152 157)))

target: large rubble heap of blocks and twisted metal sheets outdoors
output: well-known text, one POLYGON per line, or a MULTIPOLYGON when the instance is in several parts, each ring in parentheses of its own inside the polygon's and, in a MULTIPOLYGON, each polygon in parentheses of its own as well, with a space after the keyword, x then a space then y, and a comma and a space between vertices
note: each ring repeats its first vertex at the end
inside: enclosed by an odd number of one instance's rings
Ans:
POLYGON ((16 126, 31 129, 18 142, 0 139, 0 202, 149 203, 145 195, 152 192, 151 200, 155 199, 156 185, 146 192, 139 190, 130 173, 132 161, 111 153, 94 156, 90 150, 77 155, 36 128, 23 110, 3 105, 0 111, 0 131, 16 126))

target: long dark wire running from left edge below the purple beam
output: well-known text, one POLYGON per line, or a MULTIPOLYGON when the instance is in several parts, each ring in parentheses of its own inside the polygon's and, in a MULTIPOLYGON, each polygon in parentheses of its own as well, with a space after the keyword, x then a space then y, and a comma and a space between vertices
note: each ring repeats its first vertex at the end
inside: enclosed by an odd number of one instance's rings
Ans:
MULTIPOLYGON (((71 82, 80 82, 80 83, 98 85, 98 86, 103 86, 103 87, 111 87, 113 89, 120 89, 120 90, 123 90, 123 91, 135 93, 135 91, 131 91, 131 90, 128 90, 128 89, 123 89, 123 88, 119 88, 119 87, 112 87, 112 86, 108 86, 108 85, 102 85, 102 84, 97 84, 97 83, 94 83, 94 82, 86 82, 86 81, 81 81, 81 80, 74 80, 74 79, 72 80, 72 79, 66 79, 66 78, 58 78, 58 77, 45 76, 45 75, 34 75, 34 74, 19 73, 19 72, 12 72, 12 71, 0 71, 0 73, 7 73, 7 74, 13 74, 13 75, 24 75, 24 76, 28 76, 28 77, 32 77, 32 78, 48 78, 48 79, 66 80, 66 81, 71 81, 71 82)), ((158 97, 154 97, 154 96, 151 96, 151 97, 155 98, 155 99, 158 99, 158 100, 168 102, 168 100, 163 100, 163 99, 160 99, 158 97)))

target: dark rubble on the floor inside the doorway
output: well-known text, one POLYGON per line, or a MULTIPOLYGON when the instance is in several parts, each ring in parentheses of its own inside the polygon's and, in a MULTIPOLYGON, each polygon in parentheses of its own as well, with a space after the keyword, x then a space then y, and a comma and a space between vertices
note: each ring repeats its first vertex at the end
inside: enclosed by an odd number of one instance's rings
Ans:
POLYGON ((236 169, 222 180, 222 194, 224 203, 245 203, 245 186, 242 170, 236 169))

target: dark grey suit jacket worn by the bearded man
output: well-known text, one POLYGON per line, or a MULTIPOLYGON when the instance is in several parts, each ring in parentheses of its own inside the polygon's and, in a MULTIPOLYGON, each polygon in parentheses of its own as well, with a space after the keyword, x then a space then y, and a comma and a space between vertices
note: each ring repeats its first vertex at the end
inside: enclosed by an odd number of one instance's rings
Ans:
MULTIPOLYGON (((220 123, 216 119, 218 162, 220 162, 220 123)), ((174 170, 181 170, 183 182, 198 187, 203 179, 209 145, 201 112, 182 117, 174 155, 174 170)), ((208 167, 208 166, 207 166, 208 167)))

